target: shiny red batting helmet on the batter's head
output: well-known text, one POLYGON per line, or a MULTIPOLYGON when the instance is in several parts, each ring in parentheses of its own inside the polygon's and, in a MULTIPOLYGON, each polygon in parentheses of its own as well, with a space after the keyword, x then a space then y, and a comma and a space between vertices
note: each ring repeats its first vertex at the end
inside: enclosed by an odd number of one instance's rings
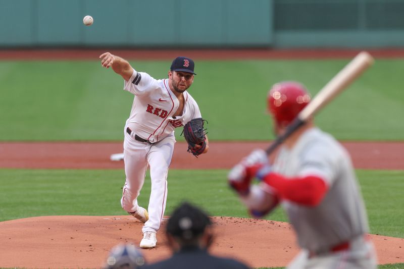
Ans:
POLYGON ((309 102, 305 86, 294 81, 276 83, 268 92, 268 110, 278 125, 289 124, 309 102))

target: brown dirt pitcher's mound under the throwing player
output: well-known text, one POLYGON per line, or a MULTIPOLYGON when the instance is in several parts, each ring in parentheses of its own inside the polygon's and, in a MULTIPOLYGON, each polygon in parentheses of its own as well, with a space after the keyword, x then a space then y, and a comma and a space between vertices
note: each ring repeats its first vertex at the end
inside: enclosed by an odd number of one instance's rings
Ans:
MULTIPOLYGON (((297 254, 293 231, 282 222, 214 217, 211 252, 251 267, 285 266, 297 254)), ((142 223, 131 216, 50 216, 0 222, 0 267, 99 268, 109 250, 139 245, 142 223)), ((165 223, 157 247, 142 250, 147 262, 170 255, 165 223)), ((404 262, 404 239, 372 235, 379 263, 404 262)))

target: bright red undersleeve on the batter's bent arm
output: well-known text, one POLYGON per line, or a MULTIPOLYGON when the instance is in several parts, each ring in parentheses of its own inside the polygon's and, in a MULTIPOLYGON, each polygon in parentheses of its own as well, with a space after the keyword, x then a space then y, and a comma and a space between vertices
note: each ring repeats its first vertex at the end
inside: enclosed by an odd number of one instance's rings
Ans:
POLYGON ((281 198, 307 206, 319 205, 328 190, 324 179, 318 176, 285 178, 270 173, 264 177, 264 182, 274 188, 281 198))

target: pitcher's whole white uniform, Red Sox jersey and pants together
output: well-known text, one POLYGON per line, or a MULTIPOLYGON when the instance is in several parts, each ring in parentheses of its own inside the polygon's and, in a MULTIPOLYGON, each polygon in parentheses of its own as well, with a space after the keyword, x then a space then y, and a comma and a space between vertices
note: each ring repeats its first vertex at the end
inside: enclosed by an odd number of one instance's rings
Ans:
POLYGON ((124 90, 135 95, 130 116, 124 128, 125 185, 121 205, 128 212, 138 209, 137 197, 150 167, 151 192, 148 203, 148 221, 142 232, 160 229, 167 201, 167 175, 174 151, 174 129, 193 118, 200 118, 199 107, 191 95, 184 91, 181 116, 173 115, 180 105, 168 85, 169 79, 156 80, 146 73, 136 72, 124 82, 124 90), (126 128, 131 129, 128 134, 126 128), (136 136, 153 144, 139 141, 136 136))

